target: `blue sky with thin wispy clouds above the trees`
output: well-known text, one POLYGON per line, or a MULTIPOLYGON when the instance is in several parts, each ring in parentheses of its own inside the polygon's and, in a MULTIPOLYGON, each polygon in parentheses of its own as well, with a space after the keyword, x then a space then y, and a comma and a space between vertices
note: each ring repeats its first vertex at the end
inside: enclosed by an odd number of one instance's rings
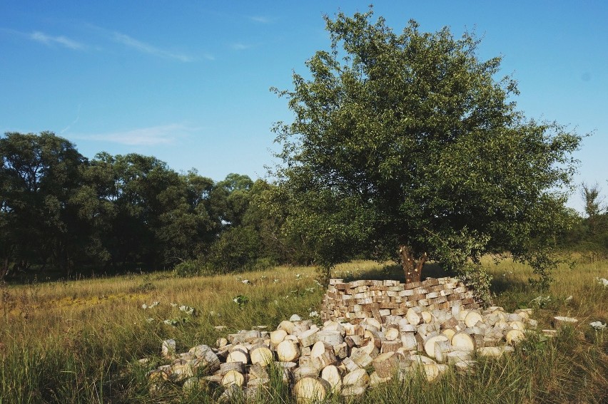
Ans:
MULTIPOLYGON (((608 1, 0 1, 0 133, 50 130, 92 158, 153 155, 222 180, 267 175, 290 122, 292 74, 328 50, 323 15, 365 12, 399 33, 475 32, 502 56, 517 109, 584 138, 577 184, 608 191, 608 1)), ((577 192, 568 202, 582 210, 577 192)))

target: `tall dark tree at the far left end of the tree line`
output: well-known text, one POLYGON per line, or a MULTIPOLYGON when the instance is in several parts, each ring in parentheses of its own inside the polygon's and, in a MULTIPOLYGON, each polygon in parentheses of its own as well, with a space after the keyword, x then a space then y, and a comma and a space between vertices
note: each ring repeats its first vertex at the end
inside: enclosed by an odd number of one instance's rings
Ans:
POLYGON ((86 159, 51 132, 0 137, 0 279, 47 263, 71 270, 80 249, 81 222, 71 197, 86 159))

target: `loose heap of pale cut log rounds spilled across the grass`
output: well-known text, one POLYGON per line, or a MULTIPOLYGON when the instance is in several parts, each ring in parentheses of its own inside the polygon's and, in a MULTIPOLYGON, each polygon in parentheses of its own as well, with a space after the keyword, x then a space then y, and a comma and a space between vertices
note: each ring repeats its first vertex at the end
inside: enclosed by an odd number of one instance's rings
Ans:
POLYGON ((330 393, 348 398, 395 378, 420 374, 432 381, 450 367, 475 371, 476 358, 511 353, 526 328, 536 326, 529 310, 466 309, 461 301, 449 309, 431 305, 380 319, 372 313, 356 324, 328 320, 322 327, 294 315, 275 331, 240 331, 219 338, 213 348, 194 346, 185 353, 176 353, 175 341, 163 341, 168 364, 148 373, 151 393, 166 383, 182 385, 185 393, 216 385, 223 389, 218 400, 225 403, 263 400, 275 375, 291 386, 298 403, 320 401, 330 393))

